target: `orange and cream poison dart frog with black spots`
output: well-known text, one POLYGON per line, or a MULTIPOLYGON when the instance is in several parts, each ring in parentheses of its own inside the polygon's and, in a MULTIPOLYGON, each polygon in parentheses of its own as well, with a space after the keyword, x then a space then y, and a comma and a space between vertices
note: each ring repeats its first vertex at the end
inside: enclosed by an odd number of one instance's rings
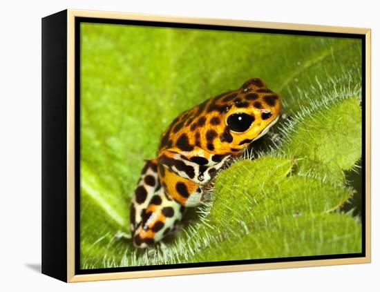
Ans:
POLYGON ((131 203, 137 248, 175 230, 187 207, 201 204, 205 185, 278 120, 281 99, 258 78, 184 111, 162 133, 157 158, 147 160, 131 203))

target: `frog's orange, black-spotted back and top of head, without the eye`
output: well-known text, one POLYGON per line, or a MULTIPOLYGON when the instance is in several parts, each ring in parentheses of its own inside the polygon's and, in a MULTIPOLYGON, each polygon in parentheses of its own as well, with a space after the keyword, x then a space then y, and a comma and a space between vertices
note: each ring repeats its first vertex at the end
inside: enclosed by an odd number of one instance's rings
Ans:
POLYGON ((267 89, 263 81, 249 79, 240 88, 211 97, 178 115, 162 133, 158 155, 170 148, 192 151, 195 147, 213 154, 234 153, 229 145, 233 138, 226 125, 227 115, 248 107, 258 111, 269 108, 277 115, 280 106, 278 95, 267 89))

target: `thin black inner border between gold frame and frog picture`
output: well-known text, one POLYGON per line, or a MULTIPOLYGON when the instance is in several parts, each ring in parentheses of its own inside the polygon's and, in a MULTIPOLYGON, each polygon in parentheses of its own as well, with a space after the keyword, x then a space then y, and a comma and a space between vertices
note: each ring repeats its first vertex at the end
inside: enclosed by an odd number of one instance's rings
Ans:
POLYGON ((93 273, 117 273, 127 271, 151 271, 163 269, 178 268, 195 268, 205 266, 231 266, 236 264, 261 264, 274 262, 296 262, 307 260, 330 260, 352 257, 365 257, 365 35, 338 33, 338 32, 309 32, 301 30, 282 30, 272 28, 246 28, 236 26, 215 26, 205 24, 189 24, 189 23, 170 23, 163 21, 137 21, 122 19, 102 19, 92 17, 75 17, 75 275, 93 274, 93 273), (81 23, 107 23, 122 24, 133 26, 152 26, 166 28, 193 28, 197 30, 227 30, 235 32, 261 32, 270 34, 284 35, 303 35, 315 37, 341 37, 350 39, 361 39, 361 66, 362 66, 362 231, 361 231, 361 253, 347 253, 336 255, 308 255, 302 257, 278 257, 254 260, 229 260, 222 262, 200 262, 200 263, 184 263, 184 264, 162 264, 153 266, 126 266, 119 268, 102 268, 102 269, 80 269, 80 24, 81 23))

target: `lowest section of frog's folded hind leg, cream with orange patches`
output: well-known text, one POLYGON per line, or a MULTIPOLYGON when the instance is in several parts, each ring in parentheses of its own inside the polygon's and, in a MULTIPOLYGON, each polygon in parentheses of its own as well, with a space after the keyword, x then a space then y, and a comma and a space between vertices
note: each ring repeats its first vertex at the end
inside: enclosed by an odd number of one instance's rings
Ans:
POLYGON ((160 242, 175 230, 183 213, 184 206, 167 196, 164 188, 159 188, 151 197, 146 209, 142 210, 141 222, 133 235, 133 244, 144 249, 149 244, 160 242))

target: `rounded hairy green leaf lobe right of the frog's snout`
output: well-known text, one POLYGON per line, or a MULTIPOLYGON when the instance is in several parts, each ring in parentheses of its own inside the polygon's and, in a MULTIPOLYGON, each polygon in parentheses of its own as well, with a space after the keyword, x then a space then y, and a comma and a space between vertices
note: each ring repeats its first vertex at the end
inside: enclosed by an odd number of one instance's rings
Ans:
POLYGON ((301 159, 298 173, 343 182, 361 157, 361 108, 357 97, 336 99, 301 112, 285 129, 280 146, 301 159))

